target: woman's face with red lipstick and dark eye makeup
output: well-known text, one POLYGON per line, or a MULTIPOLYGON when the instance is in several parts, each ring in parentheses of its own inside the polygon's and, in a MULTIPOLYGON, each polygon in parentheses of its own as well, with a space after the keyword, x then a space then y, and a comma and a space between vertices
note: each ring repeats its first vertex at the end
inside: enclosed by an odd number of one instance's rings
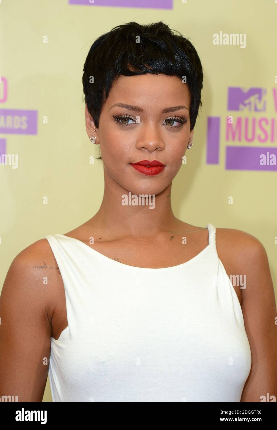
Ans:
POLYGON ((176 76, 120 76, 95 132, 87 107, 85 117, 88 136, 100 143, 105 176, 133 194, 157 195, 168 187, 192 141, 189 89, 176 76), (143 160, 164 167, 134 167, 143 160))

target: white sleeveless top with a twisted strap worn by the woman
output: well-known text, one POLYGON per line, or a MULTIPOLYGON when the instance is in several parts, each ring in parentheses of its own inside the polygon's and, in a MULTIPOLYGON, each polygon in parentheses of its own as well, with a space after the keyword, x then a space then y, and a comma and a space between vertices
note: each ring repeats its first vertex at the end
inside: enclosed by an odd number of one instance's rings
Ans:
POLYGON ((51 338, 53 402, 240 402, 251 368, 234 287, 209 244, 177 266, 112 260, 48 235, 68 326, 51 338))

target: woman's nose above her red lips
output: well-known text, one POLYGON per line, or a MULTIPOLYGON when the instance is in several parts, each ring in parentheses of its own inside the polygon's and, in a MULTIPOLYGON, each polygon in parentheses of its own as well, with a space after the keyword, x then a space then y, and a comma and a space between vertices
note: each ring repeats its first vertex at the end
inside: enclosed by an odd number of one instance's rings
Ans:
POLYGON ((140 131, 136 141, 136 148, 143 149, 148 152, 163 151, 165 147, 164 141, 161 137, 160 126, 153 123, 148 125, 140 125, 140 131))

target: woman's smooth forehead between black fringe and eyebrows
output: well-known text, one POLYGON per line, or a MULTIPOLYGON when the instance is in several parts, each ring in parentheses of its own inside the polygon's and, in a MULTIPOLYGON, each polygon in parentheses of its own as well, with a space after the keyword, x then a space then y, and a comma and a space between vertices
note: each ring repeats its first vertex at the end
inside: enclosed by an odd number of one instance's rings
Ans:
POLYGON ((189 106, 189 100, 189 88, 179 77, 147 73, 136 76, 121 75, 114 82, 105 104, 107 108, 117 102, 149 108, 154 105, 189 106))

